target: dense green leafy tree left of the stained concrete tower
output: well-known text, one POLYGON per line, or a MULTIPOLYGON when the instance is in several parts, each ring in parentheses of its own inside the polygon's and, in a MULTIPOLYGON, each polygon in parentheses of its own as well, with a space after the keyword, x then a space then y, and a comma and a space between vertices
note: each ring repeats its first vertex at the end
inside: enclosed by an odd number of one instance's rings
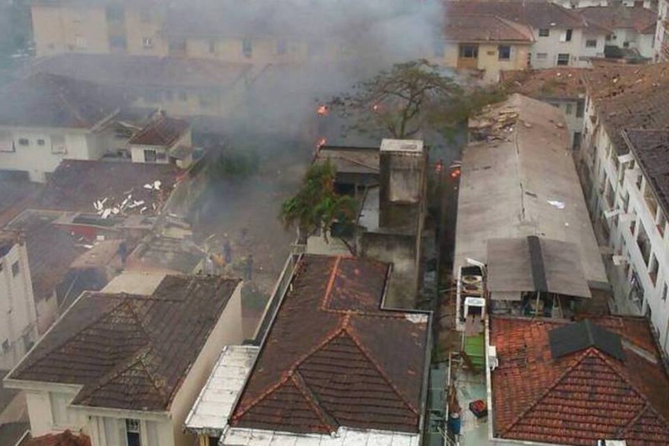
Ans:
MULTIPOLYGON (((279 219, 286 229, 297 226, 302 237, 322 230, 327 241, 327 233, 334 223, 344 226, 353 224, 357 203, 353 197, 337 194, 334 190, 336 176, 337 169, 330 160, 309 166, 300 190, 282 203, 279 219)), ((346 240, 341 240, 353 251, 346 240)))

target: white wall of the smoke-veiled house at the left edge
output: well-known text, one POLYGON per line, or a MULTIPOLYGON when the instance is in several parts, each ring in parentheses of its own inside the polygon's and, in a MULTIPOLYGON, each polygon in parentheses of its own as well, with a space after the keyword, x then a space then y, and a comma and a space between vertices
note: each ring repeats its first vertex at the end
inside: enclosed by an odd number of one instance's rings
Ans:
POLYGON ((31 180, 43 182, 45 173, 56 170, 62 160, 98 160, 100 146, 89 146, 95 135, 82 130, 49 128, 0 128, 9 132, 14 151, 0 151, 0 170, 27 171, 31 180), (54 153, 54 136, 65 138, 66 153, 54 153), (27 145, 19 144, 27 139, 27 145), (44 141, 44 144, 40 144, 44 141))

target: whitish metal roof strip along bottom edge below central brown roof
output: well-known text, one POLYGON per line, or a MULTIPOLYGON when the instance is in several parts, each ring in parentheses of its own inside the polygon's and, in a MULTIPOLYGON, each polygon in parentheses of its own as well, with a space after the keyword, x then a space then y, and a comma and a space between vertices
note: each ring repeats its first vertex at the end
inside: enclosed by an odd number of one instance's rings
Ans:
POLYGON ((348 429, 337 434, 291 433, 259 429, 229 429, 220 445, 235 446, 418 446, 419 433, 348 429))

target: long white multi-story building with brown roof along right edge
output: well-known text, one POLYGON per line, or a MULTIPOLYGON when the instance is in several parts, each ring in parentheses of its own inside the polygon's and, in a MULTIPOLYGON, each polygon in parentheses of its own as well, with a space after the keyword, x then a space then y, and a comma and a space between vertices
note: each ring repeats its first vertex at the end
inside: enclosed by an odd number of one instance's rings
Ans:
POLYGON ((663 178, 669 160, 669 66, 588 73, 582 183, 613 286, 613 309, 646 315, 669 348, 669 249, 663 178), (647 130, 638 130, 647 129, 647 130), (663 170, 665 169, 665 170, 663 170))

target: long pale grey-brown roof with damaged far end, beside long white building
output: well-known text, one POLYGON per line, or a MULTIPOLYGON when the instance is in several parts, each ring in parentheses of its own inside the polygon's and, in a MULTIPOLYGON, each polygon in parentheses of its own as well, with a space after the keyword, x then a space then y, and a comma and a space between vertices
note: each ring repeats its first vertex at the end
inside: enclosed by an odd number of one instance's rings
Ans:
POLYGON ((607 283, 560 109, 513 94, 471 118, 469 130, 454 270, 466 259, 487 263, 489 239, 539 236, 577 245, 585 279, 607 283))

